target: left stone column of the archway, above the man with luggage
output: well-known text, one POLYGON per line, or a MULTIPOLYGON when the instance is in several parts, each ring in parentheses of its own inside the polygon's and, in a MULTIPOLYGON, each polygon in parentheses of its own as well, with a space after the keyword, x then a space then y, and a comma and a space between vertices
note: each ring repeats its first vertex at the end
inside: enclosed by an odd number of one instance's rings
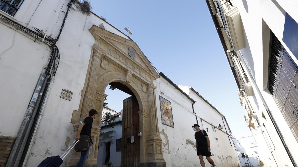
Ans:
POLYGON ((89 81, 87 84, 80 119, 84 119, 89 116, 89 110, 94 109, 95 92, 97 88, 97 82, 99 79, 100 62, 103 54, 97 49, 93 48, 93 56, 91 61, 91 68, 89 73, 89 81))

